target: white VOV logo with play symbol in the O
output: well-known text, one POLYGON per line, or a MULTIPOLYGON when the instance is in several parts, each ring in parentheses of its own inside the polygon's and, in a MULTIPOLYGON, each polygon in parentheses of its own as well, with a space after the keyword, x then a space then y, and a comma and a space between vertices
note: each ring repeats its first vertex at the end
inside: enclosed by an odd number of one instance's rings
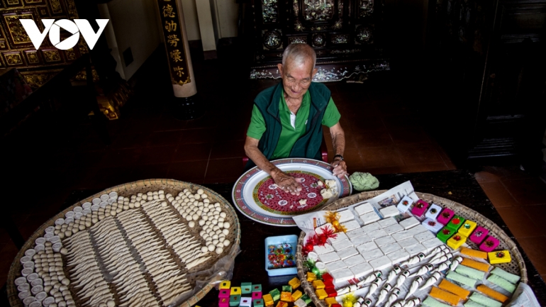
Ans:
POLYGON ((104 31, 104 28, 106 28, 106 24, 109 20, 95 19, 96 23, 99 25, 99 30, 97 30, 96 33, 93 28, 91 28, 89 21, 85 19, 74 19, 74 21, 69 21, 68 19, 59 19, 58 21, 55 21, 55 19, 42 19, 44 26, 43 32, 40 32, 40 29, 38 29, 38 26, 36 26, 33 19, 19 19, 19 21, 21 21, 23 28, 25 28, 26 33, 36 50, 40 48, 45 35, 48 35, 48 33, 50 34, 50 42, 52 45, 61 50, 73 48, 79 41, 79 33, 82 33, 89 49, 92 50, 95 47, 96 41, 99 40, 99 36, 101 36, 104 31), (72 33, 72 36, 61 42, 60 28, 72 33))

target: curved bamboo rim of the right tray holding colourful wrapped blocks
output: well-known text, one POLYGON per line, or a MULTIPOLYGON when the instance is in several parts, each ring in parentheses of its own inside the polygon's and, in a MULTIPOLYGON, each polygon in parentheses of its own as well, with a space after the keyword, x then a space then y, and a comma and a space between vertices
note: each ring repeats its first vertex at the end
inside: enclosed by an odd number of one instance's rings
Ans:
MULTIPOLYGON (((387 190, 378 190, 378 191, 364 191, 359 194, 354 194, 352 196, 347 196, 343 199, 338 199, 338 201, 335 201, 333 203, 330 203, 328 206, 325 206, 322 210, 337 210, 339 208, 345 208, 347 206, 351 206, 355 203, 359 203, 362 201, 366 201, 368 199, 372 199, 375 196, 378 196, 379 194, 382 194, 386 192, 387 190)), ((518 267, 520 269, 520 282, 523 282, 524 284, 528 283, 528 275, 527 275, 527 269, 525 267, 525 262, 523 260, 523 256, 518 250, 518 246, 516 245, 513 240, 506 235, 504 230, 500 228, 496 223, 493 223, 493 221, 489 220, 489 218, 486 218, 481 213, 478 213, 472 208, 469 208, 467 206, 464 206, 462 203, 457 203, 456 201, 452 201, 450 199, 445 199, 440 196, 435 196, 434 194, 428 194, 428 193, 420 193, 415 192, 419 199, 435 199, 438 200, 438 202, 441 202, 443 200, 443 203, 450 203, 450 206, 455 207, 462 207, 464 210, 467 211, 470 215, 473 215, 474 218, 477 220, 480 219, 479 223, 483 223, 486 225, 487 228, 489 228, 492 232, 494 232, 498 237, 502 238, 504 242, 506 242, 506 245, 510 247, 510 252, 512 253, 513 257, 512 260, 516 261, 518 263, 518 267)), ((298 238, 298 244, 296 247, 296 267, 298 268, 298 277, 301 280, 301 287, 305 291, 305 293, 311 297, 311 300, 317 307, 328 307, 323 300, 319 300, 316 296, 315 292, 313 291, 313 286, 307 281, 306 277, 306 271, 303 268, 303 256, 301 253, 303 240, 305 239, 306 233, 301 231, 299 238, 298 238)))

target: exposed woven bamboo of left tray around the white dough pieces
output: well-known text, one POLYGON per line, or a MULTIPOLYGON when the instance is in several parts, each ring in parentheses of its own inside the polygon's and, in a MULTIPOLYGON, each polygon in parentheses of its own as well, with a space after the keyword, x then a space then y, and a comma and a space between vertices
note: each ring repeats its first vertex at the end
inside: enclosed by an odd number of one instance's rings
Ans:
MULTIPOLYGON (((64 218, 65 213, 68 211, 72 211, 72 209, 76 206, 82 206, 85 202, 91 202, 92 199, 101 196, 101 194, 108 194, 110 192, 117 192, 120 196, 130 196, 133 194, 137 194, 139 192, 145 193, 147 191, 157 191, 159 189, 162 189, 165 191, 165 194, 170 193, 173 195, 178 194, 183 189, 191 189, 192 191, 196 189, 204 189, 206 193, 209 195, 209 199, 211 199, 211 202, 218 202, 221 203, 221 206, 225 209, 225 213, 227 214, 227 217, 229 218, 232 225, 230 226, 230 234, 226 236, 228 240, 232 242, 230 245, 230 248, 226 248, 224 252, 221 255, 218 255, 216 258, 209 259, 208 261, 199 264, 199 266, 194 267, 190 270, 190 272, 194 272, 197 270, 203 270, 207 269, 213 266, 213 264, 216 263, 218 259, 221 257, 224 257, 226 255, 229 255, 232 258, 235 258, 235 256, 238 253, 239 245, 240 245, 240 223, 239 219, 237 217, 237 213, 235 213, 235 209, 233 209, 233 206, 230 205, 228 201, 226 201, 220 194, 217 194, 215 191, 212 191, 211 189, 208 189, 204 186, 199 186, 198 184, 192 184, 189 182, 179 182, 177 180, 173 179, 146 179, 146 180, 140 180, 138 182, 130 182, 127 184, 121 184, 118 186, 113 186, 110 189, 106 189, 104 191, 101 191, 100 193, 94 194, 93 196, 89 196, 87 199, 83 199, 82 201, 79 201, 77 203, 74 203, 73 206, 70 206, 65 211, 62 211, 58 213, 56 216, 50 218, 49 221, 45 222, 38 230, 33 233, 33 235, 28 238, 26 243, 23 245, 21 250, 19 250, 16 258, 13 260, 13 263, 11 264, 11 267, 9 269, 9 275, 7 280, 7 293, 9 298, 9 303, 12 307, 24 307, 23 301, 21 301, 20 298, 18 298, 18 290, 16 285, 14 284, 14 280, 18 277, 21 277, 21 262, 19 259, 24 256, 24 252, 28 250, 29 248, 32 248, 35 245, 35 240, 37 238, 40 238, 45 233, 45 228, 48 228, 49 226, 54 226, 55 221, 57 218, 64 218)), ((65 260, 63 259, 63 262, 65 260)), ((68 274, 67 274, 68 276, 68 274)), ((192 278, 188 278, 190 281, 190 284, 192 286, 195 286, 195 280, 192 278)), ((180 303, 178 306, 182 307, 190 307, 194 306, 197 302, 203 298, 208 291, 210 291, 213 288, 213 285, 206 284, 202 287, 202 289, 197 292, 194 296, 191 296, 190 298, 186 299, 186 301, 180 303)))

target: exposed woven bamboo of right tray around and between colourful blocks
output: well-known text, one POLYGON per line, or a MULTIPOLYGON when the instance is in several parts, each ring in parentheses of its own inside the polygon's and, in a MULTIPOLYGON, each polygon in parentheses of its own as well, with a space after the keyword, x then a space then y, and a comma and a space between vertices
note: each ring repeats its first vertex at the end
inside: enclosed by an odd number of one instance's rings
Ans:
MULTIPOLYGON (((355 194, 352 196, 345 197, 343 199, 339 199, 338 201, 335 201, 333 203, 330 203, 330 205, 325 206, 322 210, 324 211, 335 211, 340 208, 345 208, 347 206, 354 205, 355 203, 360 203, 361 201, 365 201, 367 199, 372 199, 375 196, 378 196, 382 193, 384 193, 386 190, 381 191, 369 191, 369 192, 362 192, 360 194, 355 194)), ((496 223, 493 223, 489 218, 486 218, 485 216, 482 216, 480 213, 477 213, 476 211, 472 210, 471 208, 468 208, 467 206, 463 206, 460 203, 456 203, 455 201, 450 201, 449 199, 444 199, 442 197, 438 197, 432 194, 425 194, 425 193, 419 193, 416 192, 419 199, 423 199, 424 201, 427 201, 428 203, 433 202, 436 203, 439 206, 450 208, 459 216, 464 217, 465 219, 470 219, 472 221, 475 221, 478 223, 478 225, 481 225, 484 228, 489 229, 490 233, 489 235, 493 235, 495 238, 498 238, 500 241, 500 244, 498 245, 498 250, 509 250, 511 253, 512 261, 509 263, 503 263, 503 264, 495 264, 497 267, 501 267, 501 269, 504 269, 506 272, 511 272, 512 274, 517 274, 521 277, 521 282, 527 284, 527 269, 525 269, 525 262, 523 262, 523 257, 521 256, 521 253, 518 250, 518 247, 516 246, 516 243, 511 240, 508 235, 500 228, 496 223)), ((305 290, 305 293, 311 297, 313 300, 313 303, 315 303, 315 306, 317 307, 328 307, 324 303, 323 300, 318 299, 318 297, 315 294, 315 290, 313 289, 313 285, 307 281, 306 277, 306 270, 303 266, 303 262, 305 259, 303 259, 303 255, 301 254, 301 247, 303 246, 303 239, 305 238, 305 233, 303 231, 299 235, 298 239, 298 245, 296 250, 296 266, 298 268, 298 277, 301 280, 301 287, 303 290, 305 290)), ((478 249, 478 246, 470 241, 467 240, 467 244, 470 245, 473 249, 478 249)))

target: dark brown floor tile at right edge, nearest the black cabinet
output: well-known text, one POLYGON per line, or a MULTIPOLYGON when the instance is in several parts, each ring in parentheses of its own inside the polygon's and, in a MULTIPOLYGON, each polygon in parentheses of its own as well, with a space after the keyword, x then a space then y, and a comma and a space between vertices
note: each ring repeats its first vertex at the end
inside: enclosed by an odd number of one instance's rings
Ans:
POLYGON ((546 203, 546 183, 540 178, 501 179, 501 181, 520 205, 546 203))

